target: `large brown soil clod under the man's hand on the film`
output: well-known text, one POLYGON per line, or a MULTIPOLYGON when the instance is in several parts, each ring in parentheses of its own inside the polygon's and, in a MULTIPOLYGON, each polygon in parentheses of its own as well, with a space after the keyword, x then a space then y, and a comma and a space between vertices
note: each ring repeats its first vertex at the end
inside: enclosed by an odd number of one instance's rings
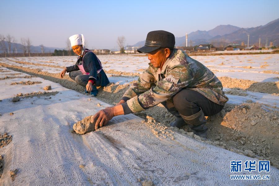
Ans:
POLYGON ((87 132, 94 131, 95 126, 91 123, 91 116, 87 116, 86 118, 78 121, 73 125, 73 129, 78 134, 85 134, 87 132))

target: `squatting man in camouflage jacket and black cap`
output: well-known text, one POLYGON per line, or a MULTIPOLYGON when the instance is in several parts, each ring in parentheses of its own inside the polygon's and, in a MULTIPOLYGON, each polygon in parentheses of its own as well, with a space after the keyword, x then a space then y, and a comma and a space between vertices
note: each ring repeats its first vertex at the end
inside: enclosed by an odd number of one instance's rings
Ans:
MULTIPOLYGON (((228 97, 213 72, 184 51, 174 49, 174 45, 175 37, 170 32, 148 33, 145 46, 138 51, 148 53, 149 67, 124 93, 117 106, 110 107, 111 116, 140 112, 162 103, 177 117, 171 126, 180 128, 188 124, 195 134, 206 137, 205 115, 220 112, 228 97)), ((98 119, 106 120, 100 115, 102 113, 97 113, 92 118, 97 128, 101 127, 98 119)))

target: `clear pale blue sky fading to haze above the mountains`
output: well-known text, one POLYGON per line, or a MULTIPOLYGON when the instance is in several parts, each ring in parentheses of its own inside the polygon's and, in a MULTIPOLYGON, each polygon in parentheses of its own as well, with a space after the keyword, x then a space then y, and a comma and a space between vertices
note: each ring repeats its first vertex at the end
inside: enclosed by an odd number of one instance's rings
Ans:
POLYGON ((83 33, 88 48, 113 49, 118 36, 133 45, 152 30, 176 37, 223 24, 256 27, 279 18, 279 1, 14 1, 1 0, 0 34, 18 43, 29 37, 32 45, 66 47, 73 34, 83 33))

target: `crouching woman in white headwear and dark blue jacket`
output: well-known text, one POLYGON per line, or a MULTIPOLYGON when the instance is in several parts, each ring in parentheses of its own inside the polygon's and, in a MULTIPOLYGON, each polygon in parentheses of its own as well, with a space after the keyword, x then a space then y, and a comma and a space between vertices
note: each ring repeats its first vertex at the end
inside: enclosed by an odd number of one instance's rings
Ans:
POLYGON ((69 37, 73 52, 78 55, 78 61, 75 65, 65 67, 60 72, 63 78, 66 72, 77 84, 85 87, 85 93, 96 96, 98 90, 96 87, 106 86, 109 81, 105 74, 102 64, 97 56, 84 47, 84 37, 82 34, 76 34, 69 37))

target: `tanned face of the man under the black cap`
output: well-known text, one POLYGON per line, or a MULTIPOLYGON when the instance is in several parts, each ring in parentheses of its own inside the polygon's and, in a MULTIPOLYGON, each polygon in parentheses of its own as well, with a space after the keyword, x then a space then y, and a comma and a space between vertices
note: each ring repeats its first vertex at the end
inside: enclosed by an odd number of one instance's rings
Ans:
POLYGON ((166 61, 165 50, 160 48, 148 53, 148 59, 150 60, 150 63, 152 63, 153 67, 161 68, 166 61))

